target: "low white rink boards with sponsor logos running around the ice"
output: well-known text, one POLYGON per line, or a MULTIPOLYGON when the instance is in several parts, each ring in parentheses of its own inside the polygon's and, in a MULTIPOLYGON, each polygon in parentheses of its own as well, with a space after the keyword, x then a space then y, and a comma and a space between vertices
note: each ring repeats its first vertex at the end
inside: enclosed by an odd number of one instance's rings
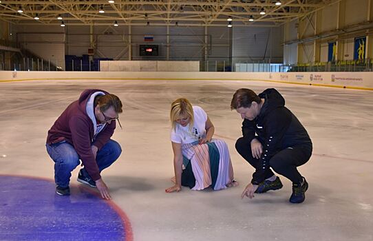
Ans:
POLYGON ((0 72, 1 82, 77 79, 270 81, 373 90, 373 72, 0 72), (56 78, 57 77, 57 78, 56 78))

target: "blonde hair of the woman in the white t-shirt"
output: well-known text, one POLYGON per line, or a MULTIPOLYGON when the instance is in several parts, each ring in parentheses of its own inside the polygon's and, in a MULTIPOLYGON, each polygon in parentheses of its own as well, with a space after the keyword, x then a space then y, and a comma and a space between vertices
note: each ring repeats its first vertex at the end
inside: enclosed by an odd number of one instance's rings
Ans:
POLYGON ((193 107, 186 98, 178 98, 176 101, 173 101, 173 103, 171 104, 170 120, 171 120, 173 129, 176 128, 175 121, 178 120, 180 116, 188 116, 189 118, 191 118, 189 121, 189 128, 193 127, 193 124, 194 124, 193 107))

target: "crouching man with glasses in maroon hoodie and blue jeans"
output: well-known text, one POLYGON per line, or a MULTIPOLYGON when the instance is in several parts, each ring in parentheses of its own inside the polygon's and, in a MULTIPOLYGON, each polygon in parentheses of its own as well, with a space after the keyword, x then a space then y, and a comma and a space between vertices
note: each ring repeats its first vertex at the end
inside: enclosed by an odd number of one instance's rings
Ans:
MULTIPOLYGON (((47 152, 54 160, 56 193, 70 195, 71 172, 82 161, 78 182, 96 187, 105 199, 109 189, 100 176, 114 163, 122 149, 111 140, 122 113, 122 103, 104 90, 85 90, 78 101, 71 103, 48 131, 47 152)), ((121 126, 120 126, 121 127, 121 126)))

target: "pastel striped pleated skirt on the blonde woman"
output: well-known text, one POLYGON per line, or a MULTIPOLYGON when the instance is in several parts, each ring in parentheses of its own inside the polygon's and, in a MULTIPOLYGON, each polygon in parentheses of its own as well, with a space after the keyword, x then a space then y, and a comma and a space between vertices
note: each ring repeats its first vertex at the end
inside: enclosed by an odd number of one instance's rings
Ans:
POLYGON ((198 142, 182 145, 184 169, 182 185, 193 190, 213 187, 226 189, 233 182, 233 167, 228 145, 224 140, 213 139, 199 145, 198 142))

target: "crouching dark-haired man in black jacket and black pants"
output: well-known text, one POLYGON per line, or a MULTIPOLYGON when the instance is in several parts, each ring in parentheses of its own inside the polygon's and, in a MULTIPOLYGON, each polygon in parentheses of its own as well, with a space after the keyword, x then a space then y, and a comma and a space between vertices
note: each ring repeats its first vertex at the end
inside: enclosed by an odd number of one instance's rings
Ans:
POLYGON ((285 107, 281 94, 275 89, 267 89, 258 96, 253 90, 239 89, 233 95, 231 109, 244 119, 243 136, 235 147, 255 168, 242 198, 281 189, 282 183, 273 173, 275 171, 292 181, 289 201, 303 202, 308 183, 297 167, 310 159, 312 142, 297 117, 285 107))

